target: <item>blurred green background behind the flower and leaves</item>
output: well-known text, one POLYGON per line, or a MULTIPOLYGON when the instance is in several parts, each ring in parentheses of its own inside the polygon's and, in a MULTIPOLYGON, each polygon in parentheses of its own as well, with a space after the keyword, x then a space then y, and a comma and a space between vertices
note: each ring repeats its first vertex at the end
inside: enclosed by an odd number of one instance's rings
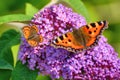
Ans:
MULTIPOLYGON (((0 0, 0 16, 25 14, 26 3, 30 3, 36 8, 41 9, 50 1, 51 0, 0 0)), ((109 22, 109 28, 104 31, 104 35, 107 37, 108 43, 115 48, 115 51, 119 53, 120 56, 120 0, 82 0, 82 2, 86 6, 88 15, 90 16, 90 22, 99 20, 107 20, 109 22)), ((12 26, 6 26, 6 24, 0 25, 0 36, 11 27, 12 26)), ((12 47, 14 53, 17 53, 18 46, 19 45, 12 47)), ((14 56, 16 55, 17 54, 14 56)), ((41 80, 40 78, 41 76, 39 76, 37 80, 41 80)), ((50 79, 47 78, 46 80, 50 79)))

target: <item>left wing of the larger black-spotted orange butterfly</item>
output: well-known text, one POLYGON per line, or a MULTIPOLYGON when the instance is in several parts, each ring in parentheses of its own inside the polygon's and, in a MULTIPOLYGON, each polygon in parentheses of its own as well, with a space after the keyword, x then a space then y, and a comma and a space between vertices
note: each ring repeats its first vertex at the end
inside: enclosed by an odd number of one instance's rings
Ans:
POLYGON ((51 45, 56 48, 64 48, 71 52, 75 52, 77 49, 83 49, 84 47, 75 40, 72 32, 67 32, 66 34, 57 37, 51 45))

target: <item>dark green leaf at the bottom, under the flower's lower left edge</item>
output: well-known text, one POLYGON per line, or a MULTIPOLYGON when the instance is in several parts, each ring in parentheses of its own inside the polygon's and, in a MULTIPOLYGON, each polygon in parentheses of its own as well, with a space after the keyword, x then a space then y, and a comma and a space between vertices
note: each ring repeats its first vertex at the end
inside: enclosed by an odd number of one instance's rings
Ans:
POLYGON ((12 80, 36 80, 37 75, 37 71, 29 70, 26 65, 18 61, 12 72, 12 80))

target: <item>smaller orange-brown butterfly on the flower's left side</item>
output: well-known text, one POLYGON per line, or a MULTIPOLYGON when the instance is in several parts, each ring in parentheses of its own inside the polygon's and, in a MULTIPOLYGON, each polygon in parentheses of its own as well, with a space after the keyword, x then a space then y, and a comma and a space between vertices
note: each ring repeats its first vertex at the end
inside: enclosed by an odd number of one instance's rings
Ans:
POLYGON ((25 39, 27 40, 28 44, 32 47, 35 47, 39 44, 39 42, 43 41, 43 37, 38 34, 39 30, 38 28, 33 26, 24 26, 22 28, 23 35, 25 39))

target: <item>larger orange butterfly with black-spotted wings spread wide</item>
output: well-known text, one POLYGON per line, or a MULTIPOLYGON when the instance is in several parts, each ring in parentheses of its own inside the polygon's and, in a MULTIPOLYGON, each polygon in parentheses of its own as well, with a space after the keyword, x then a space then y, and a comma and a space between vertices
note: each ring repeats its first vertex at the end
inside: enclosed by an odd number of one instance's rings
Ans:
POLYGON ((94 46, 102 31, 108 27, 107 21, 99 21, 73 29, 57 37, 51 44, 55 48, 64 48, 71 52, 80 52, 94 46))

